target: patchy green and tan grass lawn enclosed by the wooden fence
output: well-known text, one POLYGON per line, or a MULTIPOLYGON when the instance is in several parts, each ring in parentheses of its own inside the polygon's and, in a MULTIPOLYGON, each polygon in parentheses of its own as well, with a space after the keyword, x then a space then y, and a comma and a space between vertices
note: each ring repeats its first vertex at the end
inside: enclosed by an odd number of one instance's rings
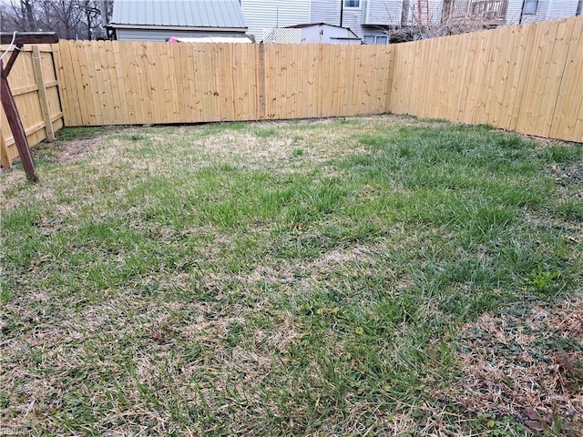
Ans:
POLYGON ((2 430, 581 435, 583 148, 66 129, 1 176, 2 430))

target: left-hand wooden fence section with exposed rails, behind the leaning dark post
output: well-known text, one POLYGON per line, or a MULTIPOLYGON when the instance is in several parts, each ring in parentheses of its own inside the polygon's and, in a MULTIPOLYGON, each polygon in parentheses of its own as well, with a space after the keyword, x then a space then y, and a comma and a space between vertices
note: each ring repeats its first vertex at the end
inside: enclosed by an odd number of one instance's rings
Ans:
MULTIPOLYGON (((0 47, 4 53, 5 48, 0 47)), ((43 139, 53 139, 54 132, 63 127, 63 112, 51 46, 24 46, 16 59, 8 83, 26 130, 30 145, 43 139)), ((7 58, 8 56, 6 56, 7 58)), ((9 167, 18 156, 14 137, 0 107, 0 162, 9 167)))

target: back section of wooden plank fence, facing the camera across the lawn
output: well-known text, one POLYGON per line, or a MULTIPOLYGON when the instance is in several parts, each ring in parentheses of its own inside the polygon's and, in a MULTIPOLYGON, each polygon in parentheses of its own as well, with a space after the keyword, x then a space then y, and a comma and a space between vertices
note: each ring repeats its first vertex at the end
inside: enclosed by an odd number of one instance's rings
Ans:
POLYGON ((67 126, 354 116, 387 110, 390 46, 61 41, 67 126))

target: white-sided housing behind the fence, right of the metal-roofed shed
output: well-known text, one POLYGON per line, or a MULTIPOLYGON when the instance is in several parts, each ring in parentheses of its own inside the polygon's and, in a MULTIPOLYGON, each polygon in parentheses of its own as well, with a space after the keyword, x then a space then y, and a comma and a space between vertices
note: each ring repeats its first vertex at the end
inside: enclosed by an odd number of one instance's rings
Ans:
MULTIPOLYGON (((401 27, 445 20, 480 20, 485 27, 517 25, 581 14, 582 0, 240 0, 249 33, 302 23, 350 28, 365 44, 388 44, 401 27)), ((267 34, 266 34, 267 35, 267 34)), ((271 35, 271 34, 270 34, 271 35)))

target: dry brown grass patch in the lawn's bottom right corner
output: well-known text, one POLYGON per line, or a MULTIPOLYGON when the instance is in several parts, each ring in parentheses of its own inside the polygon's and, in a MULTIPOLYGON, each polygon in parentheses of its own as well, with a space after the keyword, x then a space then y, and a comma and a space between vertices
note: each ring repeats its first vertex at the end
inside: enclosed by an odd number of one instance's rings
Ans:
POLYGON ((583 299, 485 314, 460 339, 462 378, 437 397, 466 412, 551 414, 583 431, 583 299))

